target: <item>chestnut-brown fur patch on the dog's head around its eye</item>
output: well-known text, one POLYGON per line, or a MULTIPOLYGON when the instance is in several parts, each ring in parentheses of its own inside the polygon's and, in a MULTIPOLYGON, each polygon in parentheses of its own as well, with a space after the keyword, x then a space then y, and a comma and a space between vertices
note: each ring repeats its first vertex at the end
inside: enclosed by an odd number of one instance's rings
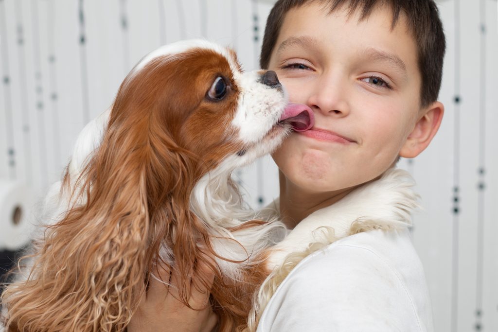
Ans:
POLYGON ((147 110, 147 114, 135 116, 150 117, 150 135, 169 133, 179 148, 198 157, 208 171, 243 146, 234 141, 237 132, 230 126, 237 111, 239 87, 227 59, 213 50, 194 48, 181 56, 158 57, 130 74, 122 89, 128 108, 123 116, 147 110), (212 101, 206 94, 217 77, 225 80, 227 93, 223 99, 212 101))

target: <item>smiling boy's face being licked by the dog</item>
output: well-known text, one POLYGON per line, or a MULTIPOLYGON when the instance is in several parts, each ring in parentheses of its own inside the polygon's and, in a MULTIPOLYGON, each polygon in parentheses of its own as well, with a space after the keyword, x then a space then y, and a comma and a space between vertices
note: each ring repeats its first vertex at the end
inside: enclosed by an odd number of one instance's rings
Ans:
POLYGON ((404 17, 391 30, 390 8, 363 21, 327 12, 313 2, 290 10, 268 66, 290 101, 315 113, 312 130, 293 132, 273 153, 287 180, 311 192, 365 183, 398 155, 414 156, 405 145, 424 113, 417 49, 404 17))

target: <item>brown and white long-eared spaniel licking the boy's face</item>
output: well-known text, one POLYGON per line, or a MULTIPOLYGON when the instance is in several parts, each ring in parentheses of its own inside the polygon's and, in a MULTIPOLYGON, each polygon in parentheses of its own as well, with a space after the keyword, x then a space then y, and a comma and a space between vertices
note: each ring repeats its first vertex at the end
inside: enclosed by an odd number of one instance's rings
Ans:
POLYGON ((219 330, 244 325, 285 229, 245 208, 231 173, 312 125, 274 72, 243 72, 231 49, 189 40, 146 55, 49 189, 50 225, 2 296, 6 331, 124 331, 159 262, 180 285, 210 266, 219 330))

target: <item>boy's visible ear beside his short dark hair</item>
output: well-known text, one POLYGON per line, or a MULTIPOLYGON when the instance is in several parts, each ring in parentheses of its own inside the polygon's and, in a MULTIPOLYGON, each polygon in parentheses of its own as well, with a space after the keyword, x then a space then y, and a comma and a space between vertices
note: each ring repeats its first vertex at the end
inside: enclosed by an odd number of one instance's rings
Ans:
POLYGON ((443 114, 444 105, 440 102, 429 105, 418 118, 399 155, 404 158, 414 158, 425 150, 439 129, 443 114))

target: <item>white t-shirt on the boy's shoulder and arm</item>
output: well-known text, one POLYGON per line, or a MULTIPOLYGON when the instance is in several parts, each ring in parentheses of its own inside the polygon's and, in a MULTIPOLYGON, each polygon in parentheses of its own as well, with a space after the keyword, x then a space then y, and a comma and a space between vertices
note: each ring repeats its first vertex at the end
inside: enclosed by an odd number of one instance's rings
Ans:
POLYGON ((257 332, 433 331, 409 230, 344 237, 305 257, 278 287, 257 332))

